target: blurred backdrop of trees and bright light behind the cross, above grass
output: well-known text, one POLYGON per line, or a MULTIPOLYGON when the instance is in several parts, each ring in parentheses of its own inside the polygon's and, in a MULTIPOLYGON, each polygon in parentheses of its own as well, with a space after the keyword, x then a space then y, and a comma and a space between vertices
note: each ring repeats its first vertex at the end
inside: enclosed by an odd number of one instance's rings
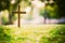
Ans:
POLYGON ((0 0, 0 25, 16 25, 17 5, 21 5, 21 24, 65 24, 64 0, 0 0))

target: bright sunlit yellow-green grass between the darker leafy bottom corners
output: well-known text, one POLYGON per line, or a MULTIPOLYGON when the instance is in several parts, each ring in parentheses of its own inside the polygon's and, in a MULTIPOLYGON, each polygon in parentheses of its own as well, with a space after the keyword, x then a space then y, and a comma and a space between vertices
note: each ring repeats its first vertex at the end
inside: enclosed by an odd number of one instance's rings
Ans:
POLYGON ((25 25, 21 28, 15 26, 2 27, 4 29, 4 33, 11 35, 11 41, 9 41, 10 43, 43 43, 40 42, 42 37, 49 38, 51 30, 58 29, 62 26, 64 27, 65 25, 25 25))

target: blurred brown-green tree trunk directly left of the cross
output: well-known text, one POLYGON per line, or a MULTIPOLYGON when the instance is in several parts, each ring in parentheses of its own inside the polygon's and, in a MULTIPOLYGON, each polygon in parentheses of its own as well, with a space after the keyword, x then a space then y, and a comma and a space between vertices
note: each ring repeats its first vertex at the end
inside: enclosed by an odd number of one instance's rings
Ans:
POLYGON ((14 17, 14 13, 12 13, 13 11, 16 11, 18 3, 22 0, 15 0, 14 4, 10 4, 10 9, 9 9, 9 24, 13 24, 13 17, 14 17))

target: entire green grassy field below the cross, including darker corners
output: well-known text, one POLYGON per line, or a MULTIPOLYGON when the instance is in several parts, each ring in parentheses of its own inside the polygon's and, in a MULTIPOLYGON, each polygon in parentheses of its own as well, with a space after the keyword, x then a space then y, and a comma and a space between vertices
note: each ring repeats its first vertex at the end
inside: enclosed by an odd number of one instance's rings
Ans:
POLYGON ((65 25, 0 26, 0 43, 65 43, 65 25))

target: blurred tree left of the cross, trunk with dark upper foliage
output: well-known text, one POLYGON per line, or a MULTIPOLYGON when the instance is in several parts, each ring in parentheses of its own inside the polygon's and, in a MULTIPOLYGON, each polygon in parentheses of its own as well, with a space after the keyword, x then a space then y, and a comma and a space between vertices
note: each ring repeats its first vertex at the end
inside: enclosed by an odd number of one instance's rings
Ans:
POLYGON ((14 16, 14 13, 12 13, 12 11, 15 11, 18 3, 22 1, 22 0, 14 0, 15 3, 11 3, 11 0, 0 0, 0 12, 3 11, 3 10, 8 10, 9 11, 9 24, 13 24, 13 16, 14 16))

